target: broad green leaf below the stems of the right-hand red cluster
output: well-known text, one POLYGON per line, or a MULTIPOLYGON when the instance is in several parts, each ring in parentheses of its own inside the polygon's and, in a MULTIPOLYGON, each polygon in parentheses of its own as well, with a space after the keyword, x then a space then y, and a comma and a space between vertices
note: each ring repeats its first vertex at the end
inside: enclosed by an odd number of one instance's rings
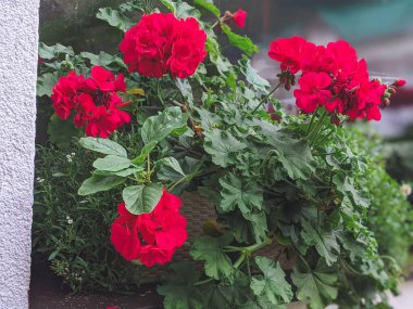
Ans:
POLYGON ((271 136, 270 143, 275 146, 278 159, 288 176, 293 179, 309 179, 314 172, 314 158, 305 140, 286 138, 277 139, 271 136))

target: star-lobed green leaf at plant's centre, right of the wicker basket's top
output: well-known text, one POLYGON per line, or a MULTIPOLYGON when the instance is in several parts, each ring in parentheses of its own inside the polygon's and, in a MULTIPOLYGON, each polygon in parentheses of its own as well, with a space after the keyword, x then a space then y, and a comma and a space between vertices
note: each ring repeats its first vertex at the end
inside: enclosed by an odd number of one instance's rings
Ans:
POLYGON ((243 214, 249 214, 254 209, 262 209, 263 193, 256 183, 250 180, 242 181, 230 172, 220 179, 220 184, 223 188, 220 204, 222 211, 229 213, 237 207, 243 214))

